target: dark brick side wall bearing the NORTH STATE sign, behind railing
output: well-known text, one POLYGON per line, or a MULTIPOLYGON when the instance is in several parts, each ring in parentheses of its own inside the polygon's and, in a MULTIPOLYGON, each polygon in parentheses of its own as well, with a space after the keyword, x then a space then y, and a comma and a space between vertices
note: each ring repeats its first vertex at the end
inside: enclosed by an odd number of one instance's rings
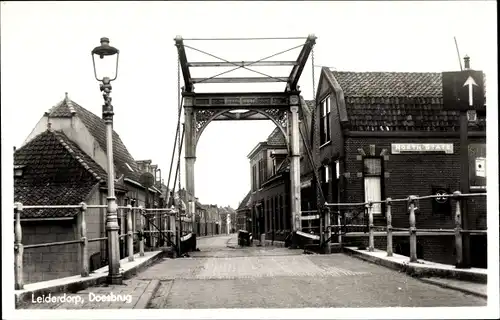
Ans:
MULTIPOLYGON (((471 143, 481 142, 471 139, 471 143)), ((382 198, 387 197, 406 198, 409 195, 430 195, 432 186, 442 186, 448 188, 450 192, 460 188, 460 144, 454 138, 429 138, 429 139, 408 139, 408 138, 348 138, 346 139, 346 201, 363 202, 364 187, 363 177, 358 173, 362 172, 362 161, 358 160, 358 148, 363 148, 369 153, 369 146, 375 145, 375 154, 379 155, 382 149, 388 150, 389 157, 383 161, 384 171, 389 176, 383 178, 382 198), (390 154, 391 143, 453 143, 453 154, 390 154)), ((451 202, 450 213, 433 212, 432 201, 420 200, 419 210, 416 212, 416 226, 418 228, 443 228, 452 229, 454 223, 454 205, 451 202)), ((486 228, 486 199, 484 197, 470 199, 467 202, 469 223, 471 229, 486 228)), ((360 209, 361 210, 361 209, 360 209)), ((385 211, 385 209, 384 209, 385 211)), ((376 225, 385 225, 384 216, 375 217, 376 225)), ((392 206, 392 225, 394 227, 407 228, 409 226, 409 214, 406 203, 394 203, 392 206)), ((349 239, 349 238, 346 238, 349 239)), ((385 250, 386 238, 376 237, 376 247, 385 250)), ((453 236, 419 236, 418 244, 423 252, 422 259, 445 264, 455 263, 455 244, 453 236)), ((480 239, 480 237, 475 237, 480 239)), ((349 240, 353 241, 353 240, 349 240)), ((365 238, 368 244, 368 238, 365 238)), ((407 237, 394 237, 394 250, 404 248, 408 243, 407 237)), ((475 241, 472 244, 472 251, 478 254, 474 257, 477 266, 483 264, 486 252, 482 251, 484 240, 475 241)), ((419 249, 420 250, 420 249, 419 249)))

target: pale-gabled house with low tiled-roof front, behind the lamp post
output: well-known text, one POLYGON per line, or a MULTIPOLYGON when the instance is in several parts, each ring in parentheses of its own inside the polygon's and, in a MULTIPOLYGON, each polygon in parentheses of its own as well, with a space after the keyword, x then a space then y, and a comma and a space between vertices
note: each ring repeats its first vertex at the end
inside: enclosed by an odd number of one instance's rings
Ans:
MULTIPOLYGON (((23 205, 106 204, 107 165, 104 121, 71 101, 67 95, 37 123, 21 148, 14 152, 14 201, 23 205)), ((145 205, 145 188, 139 183, 142 171, 113 132, 115 193, 119 205, 135 201, 145 205)), ((151 187, 152 199, 160 190, 151 187)), ((74 240, 78 210, 24 210, 21 215, 23 244, 74 240)), ((125 231, 122 211, 118 212, 120 232, 125 231)), ((139 215, 133 222, 137 228, 139 215)), ((106 235, 106 209, 88 209, 89 238, 106 235)), ((89 243, 90 267, 106 263, 106 242, 89 243)), ((78 245, 26 249, 26 283, 51 280, 79 273, 78 245)))

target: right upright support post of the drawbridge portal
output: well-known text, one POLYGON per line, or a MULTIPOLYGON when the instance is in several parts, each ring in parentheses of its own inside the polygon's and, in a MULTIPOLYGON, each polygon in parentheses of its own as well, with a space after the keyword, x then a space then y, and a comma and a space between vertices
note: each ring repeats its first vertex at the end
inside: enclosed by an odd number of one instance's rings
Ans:
POLYGON ((290 195, 292 211, 292 230, 302 229, 300 220, 300 146, 299 146, 299 96, 290 96, 290 112, 288 117, 290 130, 290 195))

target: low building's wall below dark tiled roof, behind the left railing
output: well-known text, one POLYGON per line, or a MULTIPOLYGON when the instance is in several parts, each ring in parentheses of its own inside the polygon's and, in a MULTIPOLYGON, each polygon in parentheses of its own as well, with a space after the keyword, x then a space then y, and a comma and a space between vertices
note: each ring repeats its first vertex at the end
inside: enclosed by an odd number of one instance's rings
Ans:
MULTIPOLYGON (((76 239, 74 220, 22 221, 23 244, 38 244, 76 239)), ((34 283, 80 273, 78 244, 25 249, 23 257, 24 282, 34 283)))

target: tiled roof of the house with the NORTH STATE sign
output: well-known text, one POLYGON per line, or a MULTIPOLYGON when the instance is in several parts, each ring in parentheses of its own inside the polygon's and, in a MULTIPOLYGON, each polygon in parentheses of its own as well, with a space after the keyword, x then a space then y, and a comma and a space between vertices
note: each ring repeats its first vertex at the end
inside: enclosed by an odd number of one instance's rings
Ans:
MULTIPOLYGON (((351 130, 458 131, 459 112, 443 110, 441 73, 332 71, 351 130)), ((478 115, 475 129, 484 130, 478 115)))

